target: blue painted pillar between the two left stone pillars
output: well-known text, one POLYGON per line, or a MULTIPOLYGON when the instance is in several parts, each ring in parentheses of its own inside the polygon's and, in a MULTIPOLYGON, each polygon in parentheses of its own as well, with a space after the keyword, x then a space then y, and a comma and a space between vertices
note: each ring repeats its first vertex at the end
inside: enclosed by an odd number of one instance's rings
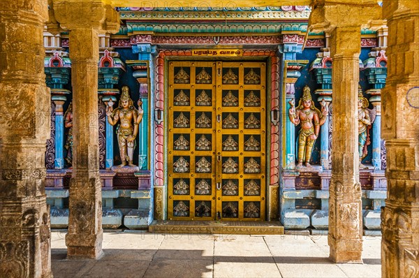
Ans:
MULTIPOLYGON (((47 86, 51 89, 51 98, 55 105, 54 133, 54 168, 64 168, 64 108, 66 95, 71 94, 64 86, 68 84, 71 73, 71 61, 60 57, 65 52, 54 52, 53 57, 45 58, 45 75, 47 86)), ((68 55, 68 54, 67 54, 68 55)))

